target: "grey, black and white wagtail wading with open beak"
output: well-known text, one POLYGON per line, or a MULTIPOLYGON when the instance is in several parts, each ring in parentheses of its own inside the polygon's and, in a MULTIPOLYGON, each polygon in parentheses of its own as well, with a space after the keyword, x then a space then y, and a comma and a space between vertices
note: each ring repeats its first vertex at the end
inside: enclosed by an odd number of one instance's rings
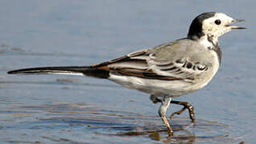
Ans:
POLYGON ((173 42, 134 51, 122 57, 89 66, 48 66, 8 71, 8 74, 72 74, 105 78, 126 88, 151 94, 154 103, 160 103, 158 114, 167 127, 173 130, 166 118, 170 104, 184 106, 171 114, 181 114, 188 109, 195 122, 193 106, 173 98, 192 93, 206 86, 221 65, 221 48, 218 38, 231 30, 246 29, 232 26, 234 19, 219 12, 204 12, 192 20, 188 35, 173 42))

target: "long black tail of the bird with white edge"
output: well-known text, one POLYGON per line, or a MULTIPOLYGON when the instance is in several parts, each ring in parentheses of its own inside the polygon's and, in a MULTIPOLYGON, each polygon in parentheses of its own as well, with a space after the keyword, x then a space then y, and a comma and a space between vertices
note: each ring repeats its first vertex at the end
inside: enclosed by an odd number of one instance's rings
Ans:
POLYGON ((20 70, 11 70, 7 74, 72 74, 86 75, 95 78, 109 78, 108 70, 99 70, 93 66, 54 66, 33 67, 20 70))

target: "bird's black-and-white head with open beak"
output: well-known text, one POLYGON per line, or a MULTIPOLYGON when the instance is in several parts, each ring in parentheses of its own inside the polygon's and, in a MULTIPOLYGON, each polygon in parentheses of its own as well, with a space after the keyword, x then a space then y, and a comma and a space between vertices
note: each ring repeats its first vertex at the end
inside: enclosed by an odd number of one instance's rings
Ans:
POLYGON ((230 26, 235 22, 244 22, 241 19, 234 19, 226 14, 208 12, 198 15, 189 27, 188 38, 200 39, 203 36, 216 39, 233 29, 245 29, 240 26, 230 26))

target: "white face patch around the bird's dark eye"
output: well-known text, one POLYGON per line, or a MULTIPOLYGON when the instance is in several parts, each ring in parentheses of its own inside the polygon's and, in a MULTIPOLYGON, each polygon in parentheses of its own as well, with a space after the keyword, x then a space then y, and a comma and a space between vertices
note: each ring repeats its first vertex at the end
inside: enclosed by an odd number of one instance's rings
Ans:
POLYGON ((204 19, 202 22, 202 30, 204 34, 217 39, 222 34, 225 34, 231 30, 231 28, 227 25, 232 23, 233 20, 233 18, 227 16, 226 14, 216 13, 213 17, 204 19))

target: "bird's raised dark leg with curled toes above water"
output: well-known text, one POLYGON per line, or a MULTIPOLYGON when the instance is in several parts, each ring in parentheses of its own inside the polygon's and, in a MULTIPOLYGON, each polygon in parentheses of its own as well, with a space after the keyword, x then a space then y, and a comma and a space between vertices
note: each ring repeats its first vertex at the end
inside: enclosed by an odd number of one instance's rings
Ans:
POLYGON ((176 111, 175 113, 172 113, 170 118, 173 118, 173 116, 175 114, 181 114, 184 112, 184 110, 188 109, 188 113, 189 113, 191 121, 195 122, 194 107, 192 106, 192 104, 190 104, 188 102, 180 102, 180 101, 171 101, 171 103, 174 103, 177 105, 182 105, 182 106, 184 106, 184 108, 179 111, 176 111))

